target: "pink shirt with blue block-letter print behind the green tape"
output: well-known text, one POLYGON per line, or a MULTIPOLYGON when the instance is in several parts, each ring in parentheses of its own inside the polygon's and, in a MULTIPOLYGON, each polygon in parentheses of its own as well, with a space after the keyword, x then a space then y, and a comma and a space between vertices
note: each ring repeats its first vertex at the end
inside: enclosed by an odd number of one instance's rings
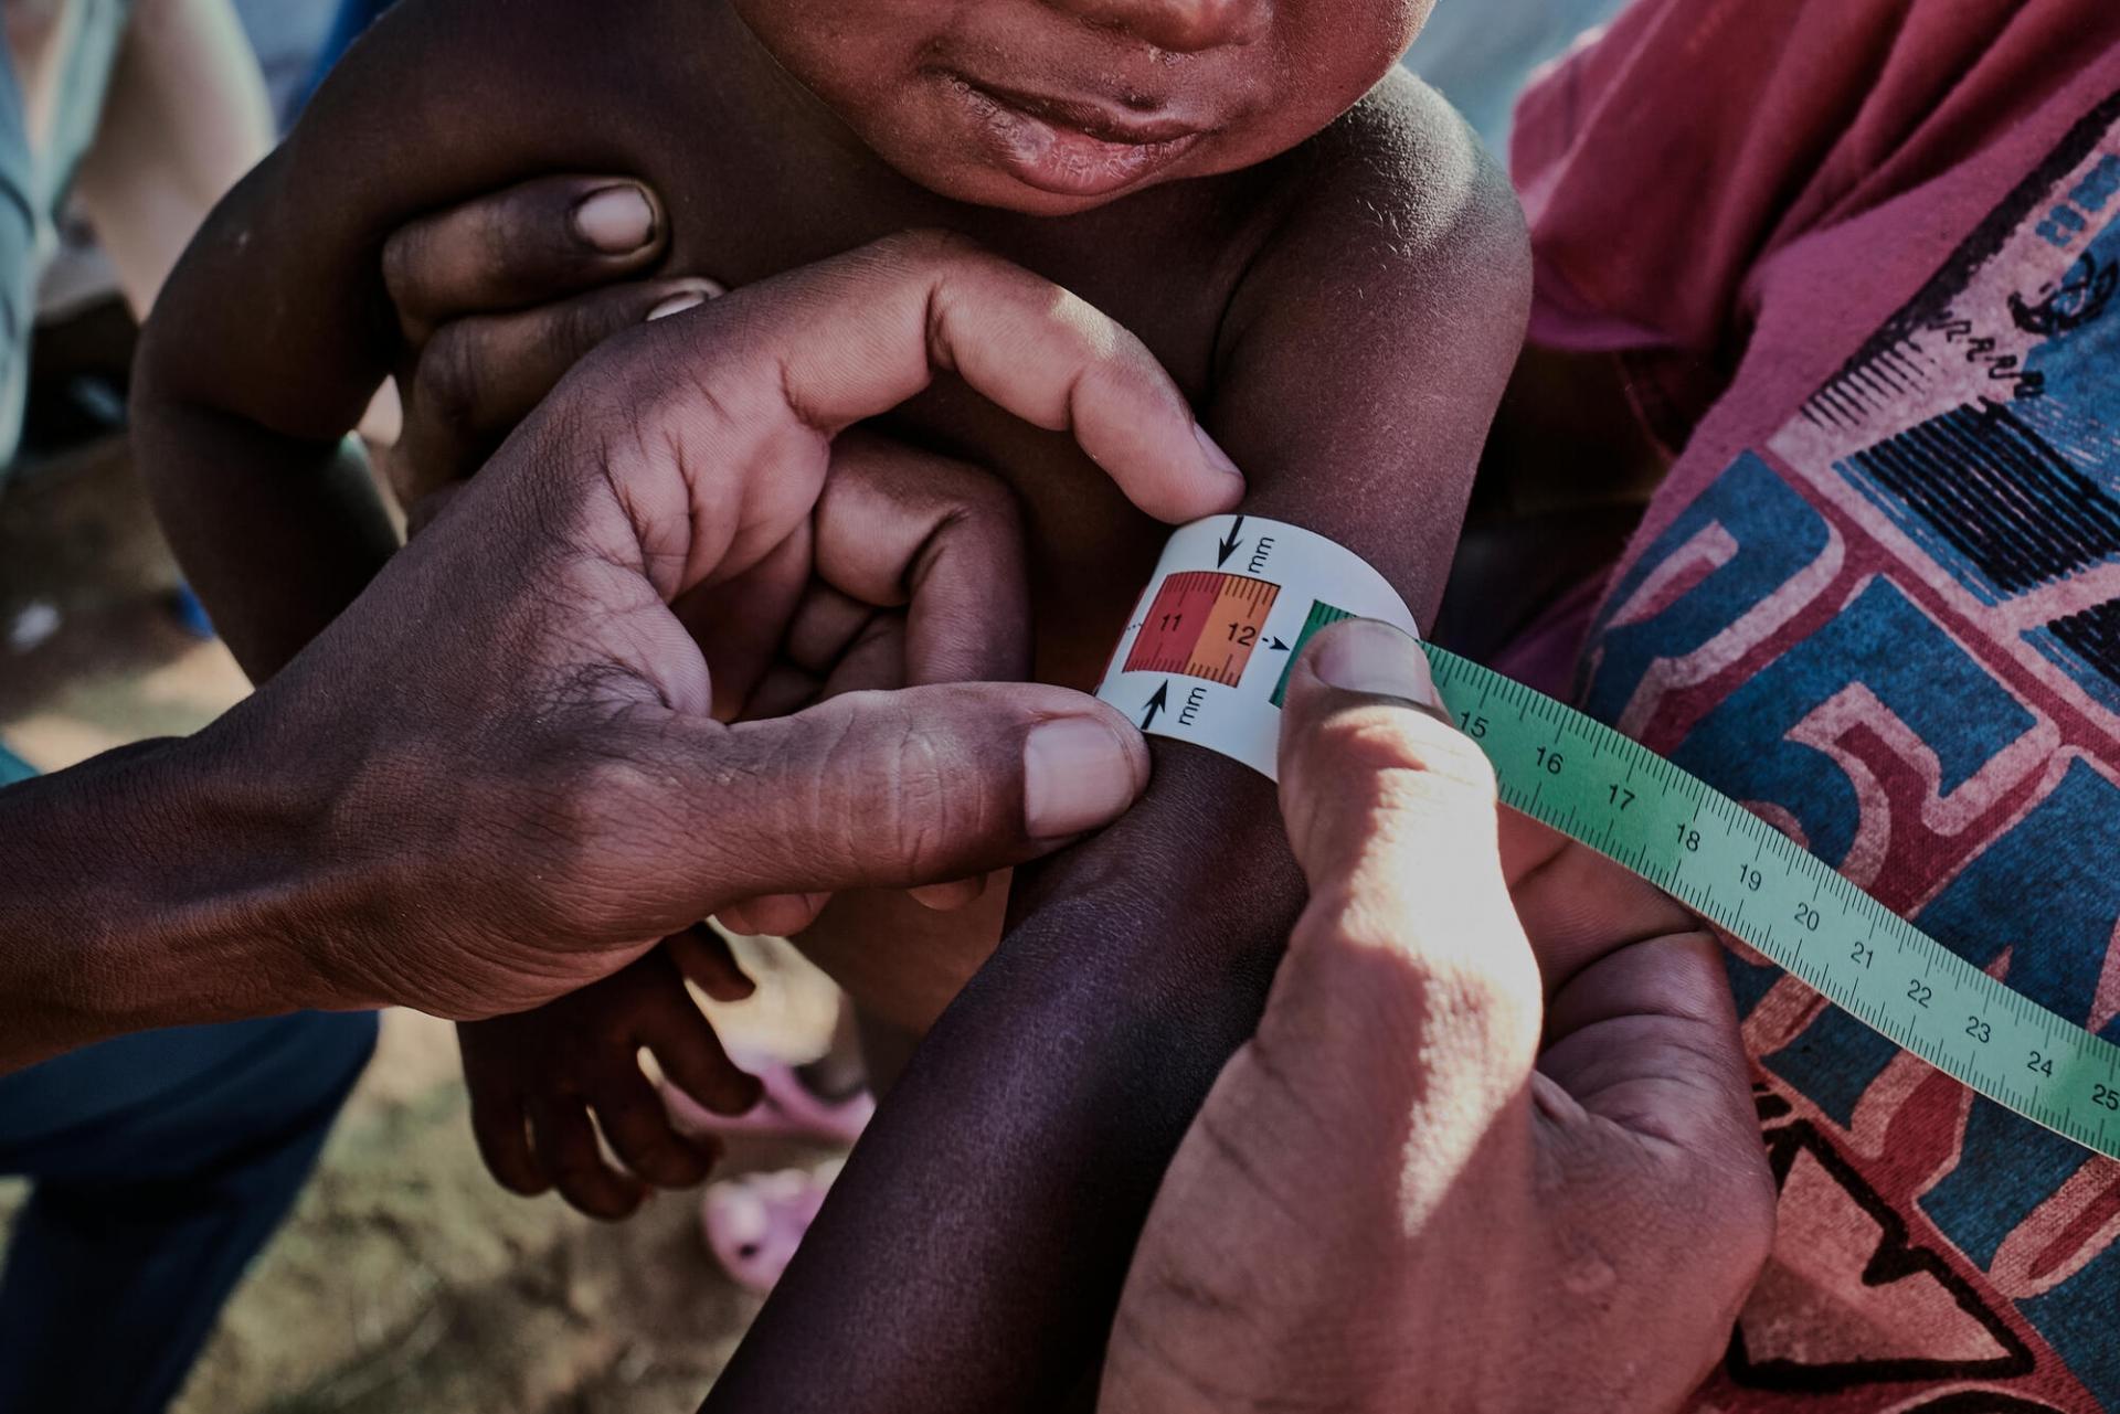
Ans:
MULTIPOLYGON (((1679 452, 1577 700, 2120 1035, 2120 4, 1637 0, 1514 170, 1679 452)), ((2120 1164, 1730 971, 1781 1238, 1698 1408, 2120 1408, 2120 1164)))

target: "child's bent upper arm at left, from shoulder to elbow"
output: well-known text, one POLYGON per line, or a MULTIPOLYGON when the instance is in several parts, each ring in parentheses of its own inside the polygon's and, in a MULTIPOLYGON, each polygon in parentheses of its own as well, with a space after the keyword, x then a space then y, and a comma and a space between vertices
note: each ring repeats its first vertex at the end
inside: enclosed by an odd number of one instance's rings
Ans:
POLYGON ((600 8, 422 0, 377 21, 184 254, 142 350, 148 396, 295 439, 350 430, 396 354, 394 229, 519 178, 628 170, 583 55, 623 68, 619 32, 649 25, 600 8))

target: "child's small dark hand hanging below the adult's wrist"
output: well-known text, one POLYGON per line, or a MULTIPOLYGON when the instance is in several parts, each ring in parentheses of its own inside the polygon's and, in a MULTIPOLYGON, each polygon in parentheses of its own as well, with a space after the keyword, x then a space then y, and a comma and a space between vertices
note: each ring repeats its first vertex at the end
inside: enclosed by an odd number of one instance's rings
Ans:
POLYGON ((672 1085, 717 1113, 757 1104, 759 1081, 721 1049, 685 977, 717 1001, 753 990, 727 943, 702 924, 555 1003, 456 1028, 471 1130, 502 1187, 524 1196, 558 1187, 589 1217, 621 1219, 651 1187, 706 1179, 719 1147, 672 1128, 640 1073, 640 1049, 655 1054, 672 1085), (625 1172, 604 1162, 598 1132, 625 1172))

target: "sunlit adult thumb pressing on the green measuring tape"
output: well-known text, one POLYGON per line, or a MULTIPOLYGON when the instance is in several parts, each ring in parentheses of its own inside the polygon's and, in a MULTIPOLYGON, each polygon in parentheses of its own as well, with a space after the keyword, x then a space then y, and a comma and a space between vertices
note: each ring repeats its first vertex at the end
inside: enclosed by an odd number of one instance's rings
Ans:
POLYGON ((1435 702, 1420 647, 1386 623, 1333 625, 1297 661, 1280 810, 1310 905, 1270 1013, 1338 1013, 1367 1049, 1382 1028, 1386 1066, 1418 1068, 1412 1092, 1503 1102, 1537 1054, 1539 973, 1501 873, 1495 772, 1435 702))

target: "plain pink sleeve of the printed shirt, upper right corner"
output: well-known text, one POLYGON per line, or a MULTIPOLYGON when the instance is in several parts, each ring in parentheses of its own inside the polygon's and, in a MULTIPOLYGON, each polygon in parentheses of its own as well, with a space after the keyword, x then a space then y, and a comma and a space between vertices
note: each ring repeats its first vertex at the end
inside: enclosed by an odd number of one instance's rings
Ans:
POLYGON ((1531 337, 1630 354, 1679 449, 1766 290, 1800 293, 1808 335, 1777 341, 1800 365, 1745 399, 1772 418, 2022 176, 2116 40, 2107 0, 1637 0, 1516 110, 1531 337))

